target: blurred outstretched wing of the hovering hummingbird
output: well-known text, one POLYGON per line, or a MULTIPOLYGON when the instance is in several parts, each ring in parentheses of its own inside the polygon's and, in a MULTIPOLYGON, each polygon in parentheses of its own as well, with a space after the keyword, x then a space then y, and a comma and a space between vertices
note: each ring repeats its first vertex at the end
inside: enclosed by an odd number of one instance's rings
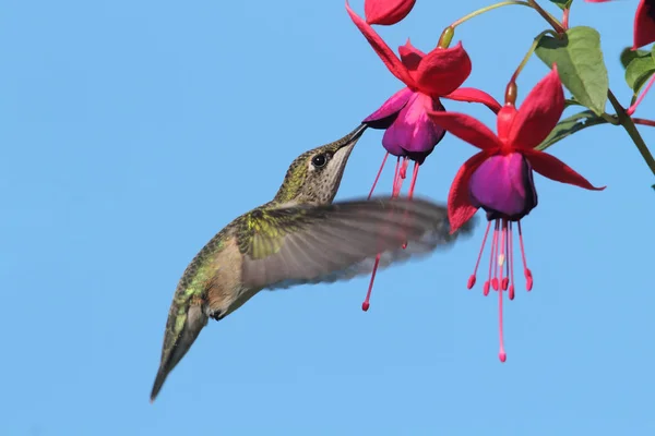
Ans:
POLYGON ((255 209, 237 233, 241 280, 260 289, 347 280, 370 274, 378 254, 384 268, 448 246, 472 227, 451 234, 446 208, 420 198, 255 209))

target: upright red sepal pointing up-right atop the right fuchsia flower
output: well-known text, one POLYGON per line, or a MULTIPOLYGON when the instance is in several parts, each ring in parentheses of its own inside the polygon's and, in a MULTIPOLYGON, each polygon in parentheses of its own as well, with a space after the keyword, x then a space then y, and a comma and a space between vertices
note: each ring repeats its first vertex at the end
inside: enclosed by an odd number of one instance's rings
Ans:
POLYGON ((536 147, 555 129, 563 111, 564 92, 553 64, 519 108, 508 142, 516 148, 536 147))

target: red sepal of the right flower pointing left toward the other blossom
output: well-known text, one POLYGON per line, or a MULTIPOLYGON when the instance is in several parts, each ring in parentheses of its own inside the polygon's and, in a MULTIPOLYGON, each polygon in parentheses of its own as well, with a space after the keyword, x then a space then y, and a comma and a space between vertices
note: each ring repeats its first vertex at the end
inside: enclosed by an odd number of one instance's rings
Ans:
POLYGON ((502 146, 498 136, 485 124, 473 117, 457 112, 428 112, 434 124, 457 136, 462 141, 485 150, 498 149, 502 146))

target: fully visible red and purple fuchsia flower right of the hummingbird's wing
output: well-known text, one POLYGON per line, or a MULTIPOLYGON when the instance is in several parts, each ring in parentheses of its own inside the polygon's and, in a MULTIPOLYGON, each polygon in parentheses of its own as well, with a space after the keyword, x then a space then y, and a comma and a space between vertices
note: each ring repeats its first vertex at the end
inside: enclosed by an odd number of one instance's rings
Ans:
POLYGON ((499 294, 500 352, 505 361, 502 338, 502 291, 514 299, 513 223, 519 228, 519 243, 523 259, 526 289, 533 287, 533 275, 525 261, 521 219, 537 206, 537 192, 533 170, 561 183, 586 190, 594 187, 586 179, 564 162, 544 152, 536 150, 552 131, 564 110, 564 94, 557 66, 528 94, 519 110, 513 104, 498 113, 498 134, 476 119, 463 113, 433 111, 430 119, 453 135, 481 149, 468 159, 455 175, 448 198, 448 214, 452 231, 469 220, 478 208, 485 209, 489 225, 483 240, 468 289, 476 282, 485 243, 493 221, 493 235, 489 262, 489 278, 483 287, 484 294, 493 288, 499 294))

